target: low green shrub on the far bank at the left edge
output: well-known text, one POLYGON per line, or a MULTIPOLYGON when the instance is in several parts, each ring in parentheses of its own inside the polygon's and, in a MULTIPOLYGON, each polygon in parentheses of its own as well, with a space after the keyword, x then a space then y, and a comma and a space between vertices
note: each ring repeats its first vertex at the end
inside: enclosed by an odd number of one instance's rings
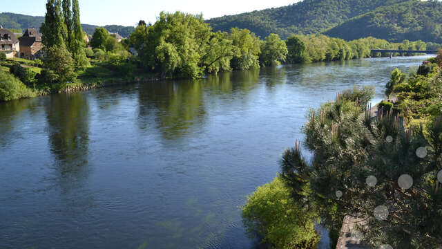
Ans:
POLYGON ((35 97, 35 93, 32 90, 28 89, 12 74, 0 71, 0 101, 30 97, 35 97))

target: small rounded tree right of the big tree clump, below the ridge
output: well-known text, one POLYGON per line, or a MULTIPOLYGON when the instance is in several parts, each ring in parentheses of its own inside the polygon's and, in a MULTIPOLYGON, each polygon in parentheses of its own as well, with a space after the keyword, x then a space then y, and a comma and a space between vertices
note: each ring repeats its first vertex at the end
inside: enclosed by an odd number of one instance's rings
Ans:
POLYGON ((285 62, 287 45, 276 34, 270 34, 261 45, 260 62, 265 66, 278 65, 285 62))

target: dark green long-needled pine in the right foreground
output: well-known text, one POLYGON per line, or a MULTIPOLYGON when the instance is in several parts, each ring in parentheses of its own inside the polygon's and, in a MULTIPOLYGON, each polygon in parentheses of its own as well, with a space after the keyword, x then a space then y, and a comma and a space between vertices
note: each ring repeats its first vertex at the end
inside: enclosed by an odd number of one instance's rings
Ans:
POLYGON ((442 240, 442 185, 436 178, 442 169, 441 118, 430 117, 425 131, 405 129, 392 112, 372 118, 364 109, 338 95, 336 102, 311 111, 304 128, 311 163, 297 144, 282 156, 282 178, 294 198, 316 206, 332 230, 340 229, 344 216, 366 217, 367 227, 356 229, 368 246, 437 248, 442 240))

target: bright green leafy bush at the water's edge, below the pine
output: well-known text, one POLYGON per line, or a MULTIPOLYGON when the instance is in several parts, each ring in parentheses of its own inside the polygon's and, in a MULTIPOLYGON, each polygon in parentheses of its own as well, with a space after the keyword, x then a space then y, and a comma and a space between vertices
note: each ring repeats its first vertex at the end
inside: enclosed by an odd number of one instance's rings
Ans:
POLYGON ((280 177, 247 196, 242 221, 249 237, 261 237, 276 249, 311 249, 318 242, 315 212, 305 212, 280 177))

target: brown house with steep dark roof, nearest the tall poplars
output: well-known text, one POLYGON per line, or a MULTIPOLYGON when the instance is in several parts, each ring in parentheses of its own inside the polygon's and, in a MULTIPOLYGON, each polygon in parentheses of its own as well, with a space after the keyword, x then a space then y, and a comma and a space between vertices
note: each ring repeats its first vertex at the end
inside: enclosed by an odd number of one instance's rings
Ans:
POLYGON ((37 59, 41 55, 43 43, 41 37, 35 28, 28 28, 20 41, 20 57, 24 59, 37 59))

